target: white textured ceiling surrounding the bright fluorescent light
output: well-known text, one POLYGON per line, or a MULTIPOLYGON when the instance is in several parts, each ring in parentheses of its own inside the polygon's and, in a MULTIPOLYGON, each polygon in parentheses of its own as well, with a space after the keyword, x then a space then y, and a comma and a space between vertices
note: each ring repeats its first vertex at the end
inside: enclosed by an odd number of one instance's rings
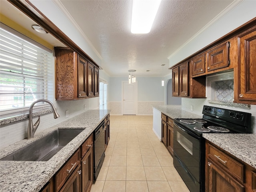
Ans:
POLYGON ((110 76, 170 74, 168 56, 187 42, 231 2, 162 0, 148 34, 130 32, 131 0, 60 0, 102 57, 110 76), (150 70, 146 72, 146 70, 150 70))

